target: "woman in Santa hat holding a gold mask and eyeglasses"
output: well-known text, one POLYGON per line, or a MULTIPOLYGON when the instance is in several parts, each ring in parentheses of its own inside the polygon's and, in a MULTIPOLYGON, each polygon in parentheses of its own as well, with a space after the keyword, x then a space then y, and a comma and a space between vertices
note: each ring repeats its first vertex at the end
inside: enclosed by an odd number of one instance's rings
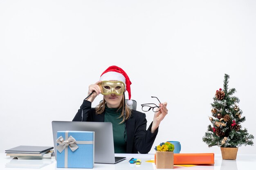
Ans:
POLYGON ((125 104, 124 92, 128 91, 130 100, 130 79, 117 66, 110 66, 101 74, 100 80, 89 86, 85 98, 73 121, 111 122, 113 126, 115 153, 148 153, 152 148, 158 132, 158 126, 168 110, 167 103, 159 104, 153 121, 146 130, 146 115, 137 110, 130 110, 125 104), (92 108, 97 95, 103 94, 103 102, 92 108))

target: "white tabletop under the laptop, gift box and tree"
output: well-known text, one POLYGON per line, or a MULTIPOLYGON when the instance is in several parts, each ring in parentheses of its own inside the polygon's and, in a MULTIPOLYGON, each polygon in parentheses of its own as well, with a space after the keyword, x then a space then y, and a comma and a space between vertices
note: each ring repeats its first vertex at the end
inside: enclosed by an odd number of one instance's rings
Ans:
MULTIPOLYGON (((55 158, 41 160, 18 160, 0 153, 0 170, 73 170, 73 168, 56 168, 55 158)), ((116 154, 119 157, 127 157, 126 160, 116 164, 95 163, 97 170, 157 170, 154 163, 145 162, 154 159, 154 154, 116 154), (130 164, 131 157, 141 159, 141 165, 130 164)), ((214 165, 182 167, 174 166, 174 169, 186 170, 255 170, 256 155, 237 155, 236 160, 222 160, 221 155, 214 155, 214 165)), ((74 169, 74 170, 81 170, 74 169)))

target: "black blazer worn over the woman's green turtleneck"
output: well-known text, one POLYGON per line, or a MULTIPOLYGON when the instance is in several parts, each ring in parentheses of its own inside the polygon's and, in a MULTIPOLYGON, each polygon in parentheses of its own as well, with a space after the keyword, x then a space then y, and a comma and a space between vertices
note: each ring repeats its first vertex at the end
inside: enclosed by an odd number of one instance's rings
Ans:
MULTIPOLYGON (((72 121, 104 121, 104 113, 96 115, 92 103, 84 100, 72 121)), ((132 110, 130 118, 126 121, 127 145, 126 153, 148 153, 157 136, 158 128, 150 132, 152 123, 146 130, 146 114, 132 110)))

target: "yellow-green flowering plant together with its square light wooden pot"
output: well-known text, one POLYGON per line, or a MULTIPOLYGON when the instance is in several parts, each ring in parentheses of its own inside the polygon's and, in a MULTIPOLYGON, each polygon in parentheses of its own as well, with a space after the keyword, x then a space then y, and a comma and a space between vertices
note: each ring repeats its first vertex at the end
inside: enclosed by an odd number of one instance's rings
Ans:
POLYGON ((170 142, 163 142, 155 147, 157 169, 173 169, 173 150, 174 145, 170 142))

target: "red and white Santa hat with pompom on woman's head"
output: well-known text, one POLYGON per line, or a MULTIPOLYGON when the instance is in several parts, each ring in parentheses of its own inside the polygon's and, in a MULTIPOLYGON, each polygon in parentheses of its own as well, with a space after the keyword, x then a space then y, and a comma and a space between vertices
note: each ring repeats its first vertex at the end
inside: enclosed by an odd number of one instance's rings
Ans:
POLYGON ((118 66, 110 66, 108 67, 102 74, 100 79, 101 81, 111 81, 111 80, 116 80, 116 81, 120 81, 123 82, 125 85, 125 89, 128 92, 128 96, 129 96, 129 100, 127 101, 126 104, 128 104, 129 106, 132 105, 132 100, 131 100, 131 89, 130 89, 130 85, 132 84, 132 82, 130 82, 130 79, 128 77, 128 75, 126 74, 126 72, 118 67, 118 66))

